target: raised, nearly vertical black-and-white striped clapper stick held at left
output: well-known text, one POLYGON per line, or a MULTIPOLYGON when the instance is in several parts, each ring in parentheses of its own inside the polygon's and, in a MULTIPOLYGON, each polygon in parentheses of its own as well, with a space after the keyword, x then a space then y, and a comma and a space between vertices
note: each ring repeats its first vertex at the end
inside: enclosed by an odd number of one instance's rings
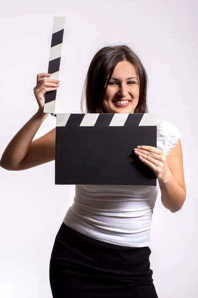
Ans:
MULTIPOLYGON (((53 78, 53 79, 59 78, 64 27, 65 27, 65 17, 54 17, 49 67, 48 67, 48 74, 52 74, 52 75, 49 78, 53 78)), ((54 113, 56 93, 57 93, 57 90, 46 92, 44 113, 54 113)))

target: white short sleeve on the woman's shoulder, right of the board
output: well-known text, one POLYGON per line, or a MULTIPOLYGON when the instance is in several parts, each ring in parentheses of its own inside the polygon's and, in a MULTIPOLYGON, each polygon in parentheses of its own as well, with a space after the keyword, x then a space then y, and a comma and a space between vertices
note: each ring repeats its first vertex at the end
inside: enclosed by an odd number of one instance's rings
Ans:
POLYGON ((181 133, 173 123, 159 120, 157 121, 157 148, 163 150, 166 155, 175 147, 181 138, 181 133))

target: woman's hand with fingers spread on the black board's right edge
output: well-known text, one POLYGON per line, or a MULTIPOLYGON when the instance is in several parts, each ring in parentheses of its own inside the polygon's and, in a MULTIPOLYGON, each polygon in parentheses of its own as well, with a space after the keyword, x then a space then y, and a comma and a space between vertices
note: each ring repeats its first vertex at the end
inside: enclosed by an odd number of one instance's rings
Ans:
POLYGON ((163 150, 151 146, 137 146, 134 152, 144 164, 153 170, 158 180, 166 177, 169 167, 166 153, 163 150))

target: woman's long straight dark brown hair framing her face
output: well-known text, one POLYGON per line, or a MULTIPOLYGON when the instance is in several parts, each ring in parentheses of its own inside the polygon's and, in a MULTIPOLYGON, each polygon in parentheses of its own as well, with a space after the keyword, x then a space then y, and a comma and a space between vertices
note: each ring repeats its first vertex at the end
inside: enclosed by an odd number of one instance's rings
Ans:
POLYGON ((139 76, 139 100, 134 113, 148 113, 146 70, 135 52, 127 45, 106 46, 101 48, 90 64, 81 99, 81 110, 86 98, 86 113, 105 113, 102 100, 106 93, 114 68, 120 61, 132 63, 139 76), (108 76, 109 74, 109 76, 108 76), (106 82, 106 78, 108 80, 106 82), (105 86, 106 83, 106 86, 105 86), (105 88, 104 88, 105 86, 105 88))

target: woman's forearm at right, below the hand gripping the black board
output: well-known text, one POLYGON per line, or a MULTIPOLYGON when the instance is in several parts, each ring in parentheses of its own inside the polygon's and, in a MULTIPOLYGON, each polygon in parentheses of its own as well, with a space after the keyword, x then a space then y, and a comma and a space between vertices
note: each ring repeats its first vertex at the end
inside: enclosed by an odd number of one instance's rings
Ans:
POLYGON ((186 191, 177 183, 170 170, 163 180, 159 180, 159 186, 164 207, 171 212, 179 211, 185 202, 186 191))

